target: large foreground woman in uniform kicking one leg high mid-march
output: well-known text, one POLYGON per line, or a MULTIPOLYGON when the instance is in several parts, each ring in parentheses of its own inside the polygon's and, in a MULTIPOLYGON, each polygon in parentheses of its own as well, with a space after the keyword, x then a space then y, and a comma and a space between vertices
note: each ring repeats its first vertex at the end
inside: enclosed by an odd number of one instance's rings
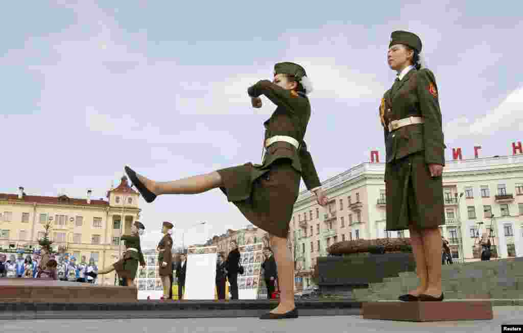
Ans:
POLYGON ((311 91, 304 68, 290 62, 275 65, 274 81, 262 80, 248 88, 254 108, 261 107, 260 95, 265 95, 277 106, 264 122, 265 154, 261 165, 247 163, 168 182, 147 179, 126 167, 134 186, 147 202, 152 202, 160 194, 194 194, 219 187, 247 220, 271 235, 270 244, 280 275, 281 298, 278 307, 261 316, 262 319, 298 316, 294 306, 294 272, 287 236, 300 176, 306 187, 315 193, 320 205, 327 202, 311 154, 303 141, 311 116, 306 95, 311 91))

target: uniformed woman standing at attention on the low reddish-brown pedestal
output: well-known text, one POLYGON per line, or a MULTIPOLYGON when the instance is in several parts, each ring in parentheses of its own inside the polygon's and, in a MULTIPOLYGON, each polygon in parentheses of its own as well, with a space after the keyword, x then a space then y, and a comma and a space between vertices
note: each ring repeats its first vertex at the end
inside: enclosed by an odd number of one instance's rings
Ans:
POLYGON ((386 229, 409 229, 418 288, 402 301, 442 301, 441 233, 445 224, 442 169, 445 166, 441 111, 434 74, 421 68, 422 41, 394 31, 388 64, 397 72, 380 105, 386 147, 386 229))

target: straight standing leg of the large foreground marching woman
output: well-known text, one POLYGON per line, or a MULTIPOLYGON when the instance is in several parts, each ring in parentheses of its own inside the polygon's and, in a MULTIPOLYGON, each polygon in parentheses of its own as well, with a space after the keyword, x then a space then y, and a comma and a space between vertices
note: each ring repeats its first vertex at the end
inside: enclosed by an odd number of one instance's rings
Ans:
POLYGON ((287 238, 270 236, 270 245, 274 252, 276 267, 278 268, 278 282, 280 289, 280 304, 270 313, 283 314, 294 309, 294 267, 287 238))

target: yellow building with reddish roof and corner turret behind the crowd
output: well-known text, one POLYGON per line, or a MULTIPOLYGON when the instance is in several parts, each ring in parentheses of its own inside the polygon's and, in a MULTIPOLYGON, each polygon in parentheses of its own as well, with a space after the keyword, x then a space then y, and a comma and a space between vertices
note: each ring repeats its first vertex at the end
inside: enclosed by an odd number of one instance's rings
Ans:
MULTIPOLYGON (((125 248, 120 235, 129 234, 140 218, 139 194, 129 187, 126 176, 105 199, 94 200, 91 193, 88 190, 83 199, 65 194, 28 196, 23 187, 18 194, 0 193, 0 252, 39 248, 43 225, 51 221, 55 251, 63 249, 77 259, 94 258, 100 268, 117 261, 125 248)), ((115 273, 100 276, 98 283, 114 284, 115 273)))

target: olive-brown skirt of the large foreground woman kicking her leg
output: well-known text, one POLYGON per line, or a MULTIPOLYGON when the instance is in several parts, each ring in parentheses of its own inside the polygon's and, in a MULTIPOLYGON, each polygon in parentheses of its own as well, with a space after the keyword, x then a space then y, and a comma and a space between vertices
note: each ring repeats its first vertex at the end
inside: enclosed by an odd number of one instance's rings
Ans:
POLYGON ((301 174, 289 158, 278 158, 268 167, 252 163, 217 170, 222 192, 252 224, 271 235, 287 238, 301 174))

